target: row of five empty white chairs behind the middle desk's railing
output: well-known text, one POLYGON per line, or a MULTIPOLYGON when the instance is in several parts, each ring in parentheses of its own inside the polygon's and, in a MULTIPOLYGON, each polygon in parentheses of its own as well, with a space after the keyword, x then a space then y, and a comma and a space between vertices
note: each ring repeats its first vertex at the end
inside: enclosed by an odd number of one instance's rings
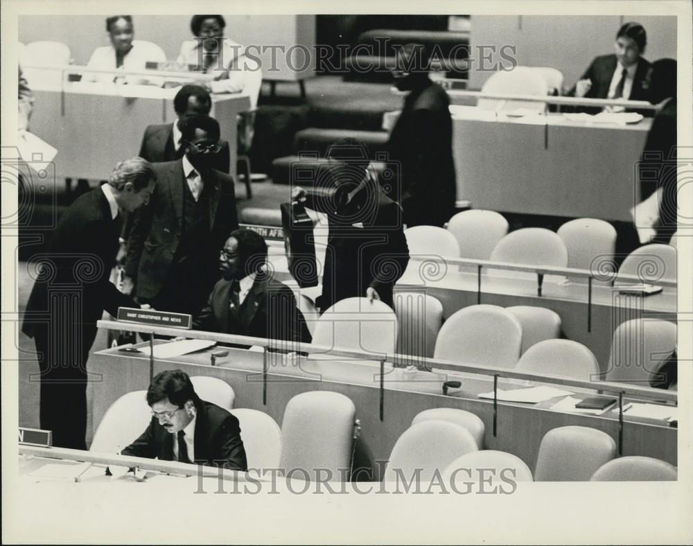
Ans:
MULTIPOLYGON (((527 227, 508 233, 507 220, 497 212, 469 210, 450 218, 446 228, 416 226, 405 230, 412 256, 438 255, 521 265, 547 265, 615 274, 616 230, 604 220, 578 218, 554 233, 527 227)), ((676 240, 674 237, 672 240, 676 240)), ((676 247, 652 243, 635 249, 618 270, 648 282, 676 280, 676 247)))

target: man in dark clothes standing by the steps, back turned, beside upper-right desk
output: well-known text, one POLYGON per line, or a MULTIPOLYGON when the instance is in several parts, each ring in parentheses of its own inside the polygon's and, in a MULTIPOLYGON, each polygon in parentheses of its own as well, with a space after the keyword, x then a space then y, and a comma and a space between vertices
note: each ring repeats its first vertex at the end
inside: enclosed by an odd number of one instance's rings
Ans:
POLYGON ((457 182, 453 163, 453 121, 446 91, 428 77, 430 55, 409 44, 397 55, 395 82, 409 91, 387 143, 391 161, 401 168, 393 197, 407 227, 441 226, 455 213, 457 182))

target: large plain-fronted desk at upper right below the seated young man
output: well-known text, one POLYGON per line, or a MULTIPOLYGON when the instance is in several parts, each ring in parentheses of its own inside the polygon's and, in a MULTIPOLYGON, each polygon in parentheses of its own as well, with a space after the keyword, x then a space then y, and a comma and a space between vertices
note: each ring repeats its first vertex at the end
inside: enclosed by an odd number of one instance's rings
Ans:
POLYGON ((453 115, 457 199, 490 211, 632 221, 651 118, 615 125, 462 112, 453 115))

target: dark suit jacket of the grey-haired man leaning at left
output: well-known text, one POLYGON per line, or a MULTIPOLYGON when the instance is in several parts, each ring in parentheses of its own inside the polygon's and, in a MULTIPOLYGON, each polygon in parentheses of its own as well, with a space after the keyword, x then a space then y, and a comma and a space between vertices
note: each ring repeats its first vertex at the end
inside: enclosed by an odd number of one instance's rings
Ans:
POLYGON ((46 276, 42 275, 34 283, 26 304, 22 325, 26 335, 33 337, 38 327, 58 322, 65 339, 73 335, 81 337, 82 344, 65 344, 69 351, 84 348, 88 351, 96 335, 96 321, 103 310, 116 315, 120 306, 139 307, 134 299, 121 294, 109 282, 118 252, 119 227, 118 220, 111 218, 101 188, 83 193, 62 214, 48 250, 42 256, 49 263, 44 268, 46 276), (75 294, 81 315, 73 303, 52 298, 51 292, 75 294), (43 318, 35 315, 46 312, 49 314, 43 318))

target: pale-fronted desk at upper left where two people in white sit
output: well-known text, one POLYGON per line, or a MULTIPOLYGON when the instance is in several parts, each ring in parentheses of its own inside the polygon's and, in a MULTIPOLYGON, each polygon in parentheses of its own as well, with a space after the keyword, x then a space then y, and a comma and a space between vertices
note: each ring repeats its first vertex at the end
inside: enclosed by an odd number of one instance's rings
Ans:
MULTIPOLYGON (((30 132, 58 150, 55 174, 62 178, 108 179, 122 159, 134 157, 147 125, 172 123, 178 89, 146 85, 65 82, 64 87, 36 85, 30 132)), ((236 115, 250 107, 242 94, 212 96, 211 116, 229 141, 236 166, 236 115)), ((61 184, 58 182, 58 184, 61 184)))

